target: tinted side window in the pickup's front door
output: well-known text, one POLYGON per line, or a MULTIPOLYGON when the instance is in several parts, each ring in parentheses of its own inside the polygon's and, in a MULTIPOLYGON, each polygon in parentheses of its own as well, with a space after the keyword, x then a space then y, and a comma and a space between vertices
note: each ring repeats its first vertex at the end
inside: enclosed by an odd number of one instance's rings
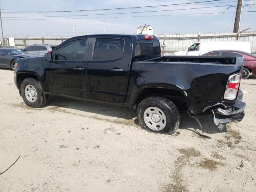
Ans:
POLYGON ((67 42, 55 51, 55 60, 83 61, 87 39, 67 42))

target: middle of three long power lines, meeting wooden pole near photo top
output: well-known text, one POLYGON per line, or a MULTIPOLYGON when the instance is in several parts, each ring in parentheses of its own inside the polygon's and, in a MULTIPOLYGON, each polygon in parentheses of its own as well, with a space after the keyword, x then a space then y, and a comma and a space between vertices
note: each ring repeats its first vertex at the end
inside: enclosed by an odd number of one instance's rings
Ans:
MULTIPOLYGON (((250 4, 248 4, 250 5, 250 4)), ((46 18, 46 17, 71 17, 71 16, 100 16, 100 15, 118 15, 118 14, 134 14, 134 13, 148 13, 148 12, 166 12, 166 11, 177 11, 177 10, 194 10, 194 9, 206 9, 206 8, 217 8, 217 7, 226 7, 226 6, 235 6, 235 5, 222 5, 222 6, 210 6, 210 7, 198 7, 198 8, 184 8, 184 9, 172 9, 172 10, 156 10, 156 11, 140 11, 140 12, 126 12, 126 13, 105 13, 105 14, 87 14, 87 15, 70 15, 70 16, 35 16, 32 17, 23 17, 31 18, 26 20, 50 20, 50 19, 61 19, 61 18, 46 18), (46 19, 34 19, 34 18, 46 18, 46 19)), ((8 17, 9 18, 9 17, 8 17)), ((11 17, 13 18, 13 17, 11 17)), ((21 17, 18 17, 21 18, 21 17)), ((4 19, 4 20, 22 20, 22 19, 4 19)))

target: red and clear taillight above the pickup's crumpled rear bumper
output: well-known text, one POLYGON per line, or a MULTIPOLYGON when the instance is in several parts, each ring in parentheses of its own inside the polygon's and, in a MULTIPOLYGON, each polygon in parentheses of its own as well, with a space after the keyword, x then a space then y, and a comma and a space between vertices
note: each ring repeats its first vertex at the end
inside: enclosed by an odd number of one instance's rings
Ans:
POLYGON ((240 78, 240 73, 229 76, 224 99, 234 100, 236 98, 240 85, 240 78))

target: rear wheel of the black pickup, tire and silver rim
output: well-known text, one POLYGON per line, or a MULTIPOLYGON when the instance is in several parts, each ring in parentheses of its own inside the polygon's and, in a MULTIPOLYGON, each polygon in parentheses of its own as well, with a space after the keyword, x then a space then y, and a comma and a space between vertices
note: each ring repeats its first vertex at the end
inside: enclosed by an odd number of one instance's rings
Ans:
POLYGON ((142 128, 164 134, 174 134, 180 125, 180 113, 176 105, 158 96, 140 102, 137 118, 142 128))

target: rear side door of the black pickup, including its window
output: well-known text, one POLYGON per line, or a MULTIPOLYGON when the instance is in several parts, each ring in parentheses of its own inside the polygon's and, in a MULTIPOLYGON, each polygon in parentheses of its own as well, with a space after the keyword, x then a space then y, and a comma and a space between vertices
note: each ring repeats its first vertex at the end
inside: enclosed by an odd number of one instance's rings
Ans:
POLYGON ((122 103, 126 93, 131 38, 95 38, 87 67, 90 98, 122 103))

